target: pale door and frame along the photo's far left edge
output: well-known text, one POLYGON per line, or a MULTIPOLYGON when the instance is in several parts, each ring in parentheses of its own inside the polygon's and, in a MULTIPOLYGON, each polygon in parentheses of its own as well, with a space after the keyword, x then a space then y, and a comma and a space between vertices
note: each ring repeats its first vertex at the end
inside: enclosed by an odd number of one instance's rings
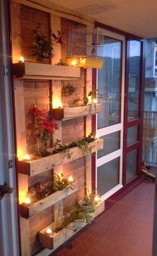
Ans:
POLYGON ((0 1, 0 184, 15 190, 0 201, 0 255, 19 255, 8 1, 0 1), (9 162, 10 161, 10 162, 9 162), (9 166, 10 164, 10 166, 9 166))

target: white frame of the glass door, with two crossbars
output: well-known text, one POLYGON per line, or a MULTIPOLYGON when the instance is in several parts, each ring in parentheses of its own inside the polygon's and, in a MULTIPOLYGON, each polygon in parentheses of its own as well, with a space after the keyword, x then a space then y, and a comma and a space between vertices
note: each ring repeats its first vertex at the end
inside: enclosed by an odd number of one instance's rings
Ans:
MULTIPOLYGON (((102 29, 100 29, 102 31, 102 29)), ((108 36, 112 37, 113 39, 118 39, 122 41, 122 79, 121 79, 121 102, 120 102, 120 123, 114 124, 113 126, 108 126, 105 128, 97 129, 96 127, 96 136, 104 136, 106 134, 110 134, 112 132, 120 131, 120 149, 103 156, 102 158, 96 159, 96 188, 97 188, 97 168, 98 166, 109 162, 110 160, 120 157, 120 176, 119 176, 119 184, 114 186, 111 190, 109 190, 106 194, 102 196, 103 200, 106 200, 108 197, 116 193, 120 188, 122 188, 122 148, 123 148, 123 126, 124 126, 124 78, 125 78, 125 52, 126 52, 126 38, 124 35, 120 35, 118 33, 114 33, 108 30, 103 29, 103 33, 108 36)), ((98 76, 97 76, 98 79, 98 76)), ((98 84, 98 82, 97 82, 98 84)), ((96 125, 97 125, 97 118, 96 118, 96 125)), ((105 146, 105 144, 104 144, 105 146)))

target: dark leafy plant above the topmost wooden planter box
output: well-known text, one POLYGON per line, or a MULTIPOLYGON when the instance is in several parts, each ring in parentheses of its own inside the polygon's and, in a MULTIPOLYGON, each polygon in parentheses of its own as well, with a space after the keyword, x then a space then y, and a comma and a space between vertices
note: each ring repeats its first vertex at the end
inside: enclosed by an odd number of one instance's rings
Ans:
POLYGON ((57 30, 57 35, 51 31, 49 34, 43 34, 33 29, 33 51, 32 55, 37 57, 37 61, 44 61, 55 56, 53 45, 63 44, 61 32, 57 30))

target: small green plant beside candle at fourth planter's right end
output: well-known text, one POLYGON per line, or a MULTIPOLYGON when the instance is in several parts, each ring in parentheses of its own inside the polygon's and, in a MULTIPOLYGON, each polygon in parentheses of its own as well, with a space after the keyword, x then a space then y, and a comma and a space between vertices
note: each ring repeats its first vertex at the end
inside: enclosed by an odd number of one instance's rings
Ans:
POLYGON ((54 180, 53 180, 53 189, 57 191, 57 190, 63 190, 64 188, 75 189, 75 186, 73 185, 73 182, 63 177, 63 173, 61 173, 61 176, 55 173, 54 180))

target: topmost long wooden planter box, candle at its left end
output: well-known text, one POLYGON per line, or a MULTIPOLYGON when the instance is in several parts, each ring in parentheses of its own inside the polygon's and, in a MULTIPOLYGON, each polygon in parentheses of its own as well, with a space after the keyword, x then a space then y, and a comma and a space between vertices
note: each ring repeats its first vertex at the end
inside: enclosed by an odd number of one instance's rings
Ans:
POLYGON ((23 62, 13 64, 16 78, 64 80, 80 77, 80 69, 43 63, 23 62))

